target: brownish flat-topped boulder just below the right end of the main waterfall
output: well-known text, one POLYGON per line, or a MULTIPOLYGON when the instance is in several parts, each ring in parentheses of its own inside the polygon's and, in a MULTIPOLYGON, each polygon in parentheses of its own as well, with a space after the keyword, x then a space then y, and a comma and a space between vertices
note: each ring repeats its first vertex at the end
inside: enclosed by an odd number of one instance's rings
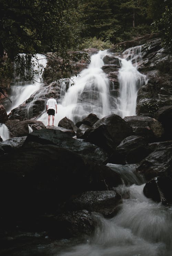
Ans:
POLYGON ((132 127, 135 135, 143 136, 148 141, 160 140, 164 129, 162 124, 148 116, 126 116, 124 120, 132 127))

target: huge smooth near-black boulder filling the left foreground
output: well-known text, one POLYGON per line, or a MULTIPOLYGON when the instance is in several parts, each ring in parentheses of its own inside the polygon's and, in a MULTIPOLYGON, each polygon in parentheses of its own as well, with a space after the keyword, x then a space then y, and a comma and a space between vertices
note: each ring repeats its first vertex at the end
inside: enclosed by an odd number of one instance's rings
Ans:
POLYGON ((21 147, 1 155, 0 161, 0 215, 4 218, 14 208, 11 219, 59 211, 72 195, 122 183, 107 166, 56 145, 21 147))

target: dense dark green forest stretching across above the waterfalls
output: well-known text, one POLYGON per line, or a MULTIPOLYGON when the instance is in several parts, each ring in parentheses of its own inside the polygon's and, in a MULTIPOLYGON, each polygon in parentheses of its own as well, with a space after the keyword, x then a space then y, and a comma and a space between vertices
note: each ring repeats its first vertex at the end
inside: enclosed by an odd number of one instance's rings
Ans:
POLYGON ((108 49, 121 41, 160 32, 172 47, 171 0, 0 0, 0 76, 12 76, 19 53, 108 49), (5 54, 5 55, 4 55, 5 54), (8 57, 7 57, 8 56, 8 57))

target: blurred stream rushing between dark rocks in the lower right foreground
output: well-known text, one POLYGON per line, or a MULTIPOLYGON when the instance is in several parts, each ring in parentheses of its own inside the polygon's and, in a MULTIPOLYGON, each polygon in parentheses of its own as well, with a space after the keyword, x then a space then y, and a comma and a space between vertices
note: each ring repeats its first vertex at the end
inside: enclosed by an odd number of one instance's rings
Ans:
POLYGON ((54 255, 171 256, 172 208, 155 203, 143 195, 144 183, 140 184, 141 178, 135 173, 135 165, 130 165, 134 179, 132 175, 126 175, 127 167, 108 166, 121 173, 128 186, 115 189, 118 193, 129 195, 129 198, 123 199, 118 214, 111 219, 93 213, 97 225, 93 236, 85 244, 72 246, 54 255))

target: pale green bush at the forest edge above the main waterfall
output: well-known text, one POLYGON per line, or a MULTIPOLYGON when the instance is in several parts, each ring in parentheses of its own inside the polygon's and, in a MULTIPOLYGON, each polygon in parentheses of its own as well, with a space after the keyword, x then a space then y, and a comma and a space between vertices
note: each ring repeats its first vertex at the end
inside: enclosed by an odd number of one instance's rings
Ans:
POLYGON ((102 41, 101 39, 97 39, 96 37, 87 38, 84 40, 83 44, 80 45, 80 49, 87 49, 87 48, 96 48, 98 50, 105 50, 112 46, 112 43, 107 41, 102 41))

